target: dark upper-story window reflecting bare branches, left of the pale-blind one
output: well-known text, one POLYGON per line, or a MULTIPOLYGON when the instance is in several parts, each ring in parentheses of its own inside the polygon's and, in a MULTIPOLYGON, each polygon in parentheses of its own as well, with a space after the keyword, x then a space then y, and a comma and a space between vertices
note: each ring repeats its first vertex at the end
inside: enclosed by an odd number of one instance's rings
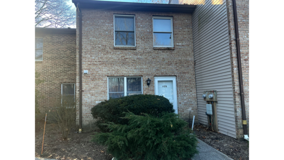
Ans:
POLYGON ((114 45, 136 46, 134 15, 114 15, 114 45))

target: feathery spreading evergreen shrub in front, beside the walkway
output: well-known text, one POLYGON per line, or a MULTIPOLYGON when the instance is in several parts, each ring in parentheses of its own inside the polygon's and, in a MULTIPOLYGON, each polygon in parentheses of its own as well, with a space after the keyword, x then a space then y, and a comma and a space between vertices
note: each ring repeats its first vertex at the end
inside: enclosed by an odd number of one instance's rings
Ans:
POLYGON ((97 133, 92 141, 108 146, 116 160, 188 160, 198 153, 197 138, 175 113, 160 117, 126 113, 128 125, 103 124, 112 132, 97 133))

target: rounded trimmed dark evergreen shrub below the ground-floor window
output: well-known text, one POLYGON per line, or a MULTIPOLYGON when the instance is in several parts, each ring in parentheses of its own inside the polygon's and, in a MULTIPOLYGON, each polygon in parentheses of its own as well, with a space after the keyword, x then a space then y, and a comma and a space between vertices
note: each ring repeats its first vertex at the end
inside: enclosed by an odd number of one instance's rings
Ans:
POLYGON ((93 118, 97 119, 96 125, 102 131, 108 131, 102 123, 113 122, 115 124, 127 124, 127 120, 121 119, 123 112, 132 112, 136 115, 146 113, 159 117, 162 112, 173 113, 173 105, 163 96, 133 95, 121 98, 111 98, 102 101, 91 108, 93 118))

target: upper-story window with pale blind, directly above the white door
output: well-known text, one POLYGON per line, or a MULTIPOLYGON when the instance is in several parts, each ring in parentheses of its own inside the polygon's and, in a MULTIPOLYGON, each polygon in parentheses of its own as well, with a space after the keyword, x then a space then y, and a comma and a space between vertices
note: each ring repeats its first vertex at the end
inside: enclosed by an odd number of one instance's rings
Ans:
POLYGON ((153 17, 154 47, 173 47, 172 17, 153 17))

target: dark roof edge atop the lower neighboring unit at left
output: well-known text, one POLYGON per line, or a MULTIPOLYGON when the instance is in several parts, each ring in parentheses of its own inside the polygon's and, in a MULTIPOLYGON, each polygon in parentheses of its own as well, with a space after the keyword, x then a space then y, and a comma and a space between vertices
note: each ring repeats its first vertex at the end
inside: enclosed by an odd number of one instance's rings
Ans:
POLYGON ((76 29, 61 29, 61 28, 35 28, 35 33, 48 34, 76 34, 76 29))

